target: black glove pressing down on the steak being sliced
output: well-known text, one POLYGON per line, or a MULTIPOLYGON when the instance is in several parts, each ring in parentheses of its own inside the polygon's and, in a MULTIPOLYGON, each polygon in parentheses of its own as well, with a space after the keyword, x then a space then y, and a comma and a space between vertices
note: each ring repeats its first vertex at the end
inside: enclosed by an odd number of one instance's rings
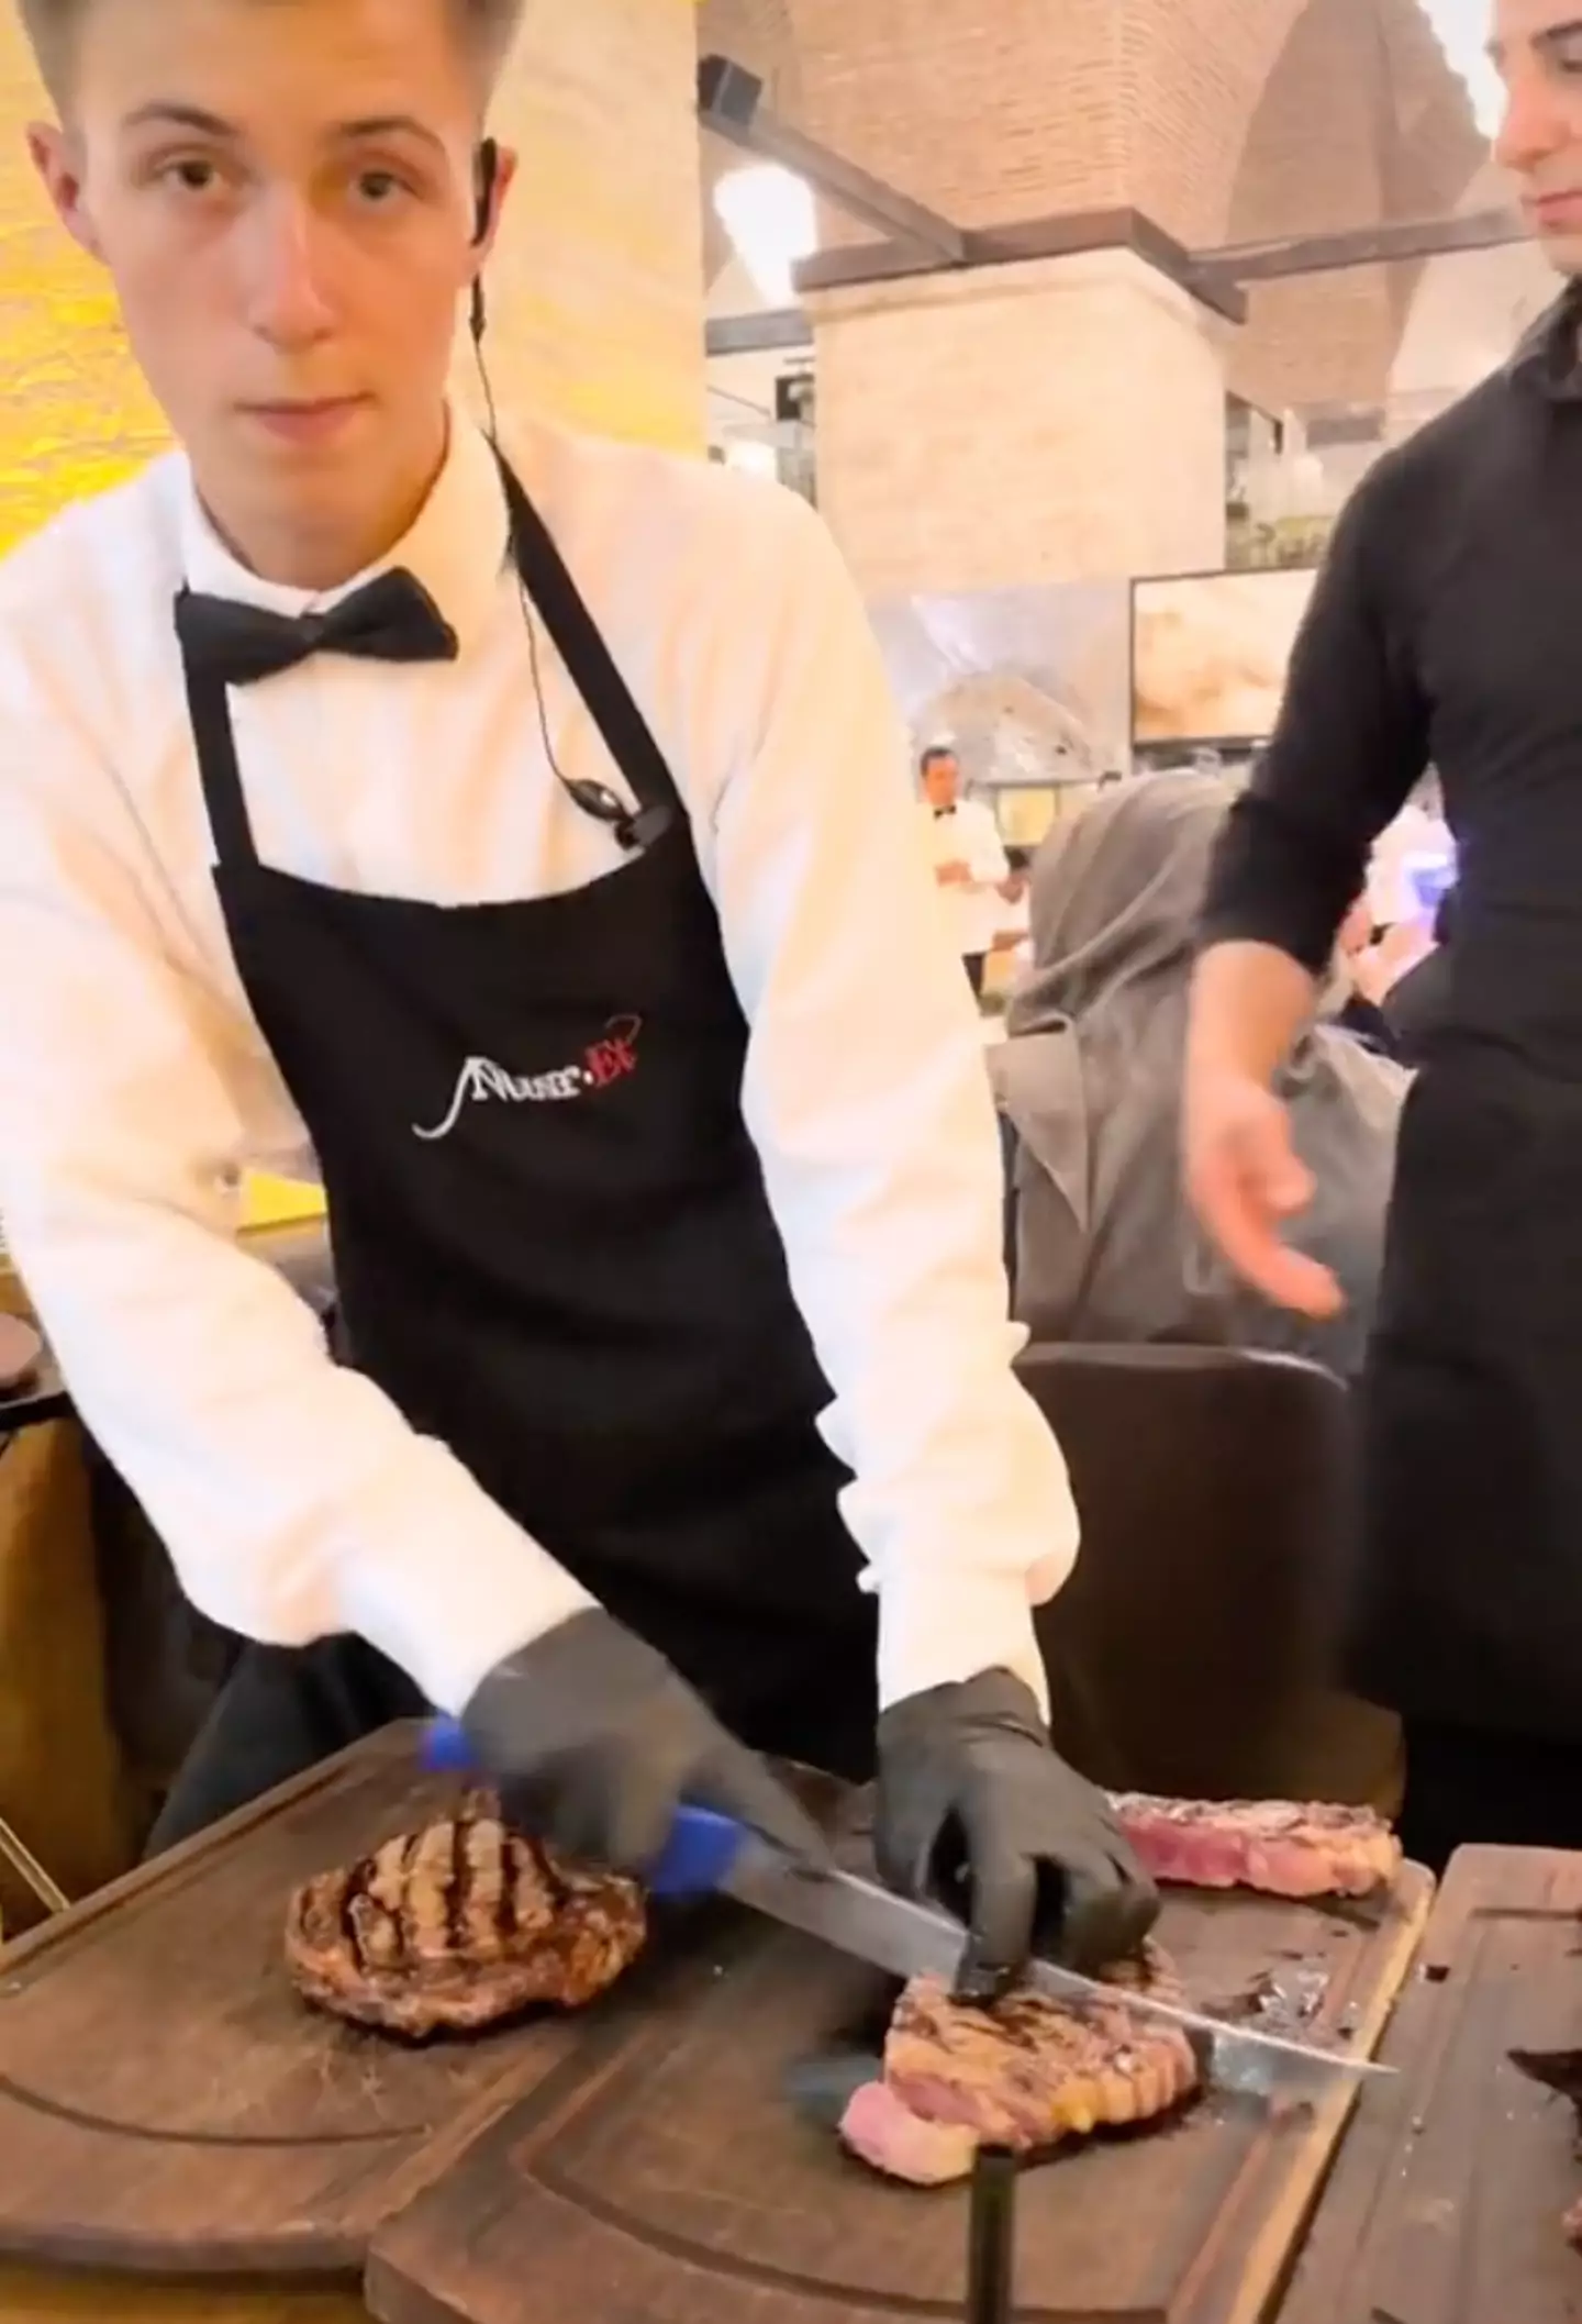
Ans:
POLYGON ((1055 1755, 1011 1671, 885 1710, 873 1848, 890 1887, 962 1910, 964 1999, 992 1999, 1034 1950, 1080 1971, 1122 1961, 1159 1913, 1108 1799, 1055 1755))

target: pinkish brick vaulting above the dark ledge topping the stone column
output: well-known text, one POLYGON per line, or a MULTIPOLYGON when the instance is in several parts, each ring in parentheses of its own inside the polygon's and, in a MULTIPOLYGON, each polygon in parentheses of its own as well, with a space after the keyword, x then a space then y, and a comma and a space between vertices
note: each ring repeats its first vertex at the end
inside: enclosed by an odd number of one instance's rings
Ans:
POLYGON ((1127 0, 1120 40, 1115 19, 1115 0, 702 0, 699 44, 964 225, 1134 205, 1203 249, 1361 223, 1359 202, 1450 209, 1482 158, 1422 0, 1127 0), (1389 121, 1398 151, 1368 149, 1389 121))

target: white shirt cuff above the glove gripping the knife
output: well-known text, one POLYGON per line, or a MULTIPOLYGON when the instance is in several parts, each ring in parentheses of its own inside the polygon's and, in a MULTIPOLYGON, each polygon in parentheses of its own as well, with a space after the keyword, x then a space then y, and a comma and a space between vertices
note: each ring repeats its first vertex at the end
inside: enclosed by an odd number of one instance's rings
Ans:
MULTIPOLYGON (((453 1459, 441 1446, 425 1452, 446 1469, 453 1459)), ((432 1480, 441 1487, 437 1501, 451 1504, 451 1480, 432 1480)), ((462 1541, 453 1506, 446 1515, 448 1527, 425 1529, 409 1499, 390 1511, 388 1527, 369 1522, 367 1548, 339 1559, 339 1606, 346 1629, 400 1664, 437 1710, 458 1717, 497 1662, 597 1601, 492 1501, 462 1541)))

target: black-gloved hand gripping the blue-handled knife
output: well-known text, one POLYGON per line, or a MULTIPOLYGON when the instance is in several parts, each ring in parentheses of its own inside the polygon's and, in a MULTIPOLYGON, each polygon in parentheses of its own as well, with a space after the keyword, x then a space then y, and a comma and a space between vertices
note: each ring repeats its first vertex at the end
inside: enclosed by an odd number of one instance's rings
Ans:
POLYGON ((818 1824, 720 1727, 664 1655, 588 1608, 495 1664, 462 1713, 506 1822, 569 1857, 643 1873, 688 1801, 825 1864, 818 1824))

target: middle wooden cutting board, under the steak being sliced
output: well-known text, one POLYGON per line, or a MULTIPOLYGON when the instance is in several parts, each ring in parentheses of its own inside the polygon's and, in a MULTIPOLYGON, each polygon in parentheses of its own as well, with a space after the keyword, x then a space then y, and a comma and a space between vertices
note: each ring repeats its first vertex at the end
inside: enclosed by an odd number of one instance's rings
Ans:
MULTIPOLYGON (((1162 1938, 1189 1989, 1229 2003, 1261 1973, 1326 1980, 1317 2038, 1371 2047, 1429 1913, 1403 1873, 1366 1915, 1173 1896, 1162 1938)), ((871 1973, 801 1938, 736 1931, 650 1989, 497 2119, 374 2238, 386 2324, 857 2324, 957 2317, 962 2189, 887 2185, 785 2099, 799 2061, 883 2020, 871 1973)), ((1029 2171, 1024 2324, 1261 2324, 1350 2113, 1208 2099, 1152 2136, 1029 2171)))

